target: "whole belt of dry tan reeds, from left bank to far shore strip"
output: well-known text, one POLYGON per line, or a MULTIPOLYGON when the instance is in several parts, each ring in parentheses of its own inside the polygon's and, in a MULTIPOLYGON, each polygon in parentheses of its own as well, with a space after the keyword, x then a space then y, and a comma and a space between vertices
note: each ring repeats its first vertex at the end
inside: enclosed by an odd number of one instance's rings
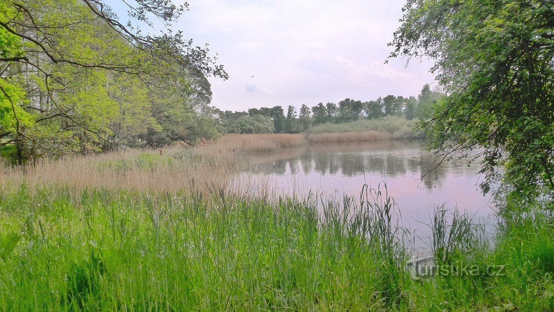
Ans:
POLYGON ((40 160, 24 168, 0 166, 0 186, 26 183, 28 186, 59 185, 83 189, 181 192, 191 187, 203 192, 223 188, 233 193, 248 192, 252 185, 237 187, 237 173, 244 154, 252 152, 295 151, 307 144, 333 142, 386 141, 384 132, 226 135, 216 142, 192 148, 170 147, 160 151, 128 150, 40 160))

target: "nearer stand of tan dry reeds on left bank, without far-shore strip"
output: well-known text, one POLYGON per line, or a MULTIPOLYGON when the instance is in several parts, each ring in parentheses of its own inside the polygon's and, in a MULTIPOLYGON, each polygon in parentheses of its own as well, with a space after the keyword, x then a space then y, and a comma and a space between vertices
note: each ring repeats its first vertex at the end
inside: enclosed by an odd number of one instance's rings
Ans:
POLYGON ((236 157, 211 154, 206 150, 130 150, 78 156, 63 160, 42 160, 25 168, 0 167, 0 186, 25 183, 30 187, 58 185, 83 189, 149 192, 209 191, 230 185, 239 162, 236 157), (183 151, 187 155, 180 155, 183 151), (205 152, 205 154, 203 154, 205 152), (161 155, 160 155, 161 154, 161 155))

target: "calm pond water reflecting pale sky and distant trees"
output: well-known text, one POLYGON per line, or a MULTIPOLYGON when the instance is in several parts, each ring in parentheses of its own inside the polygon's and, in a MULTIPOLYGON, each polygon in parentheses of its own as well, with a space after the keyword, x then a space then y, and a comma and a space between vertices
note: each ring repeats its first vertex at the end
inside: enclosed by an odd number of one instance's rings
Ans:
POLYGON ((420 142, 318 145, 250 157, 245 172, 289 194, 312 190, 338 198, 359 196, 364 183, 376 188, 386 182, 402 225, 418 236, 428 236, 433 210, 442 204, 481 221, 493 219, 491 198, 479 189, 478 166, 454 160, 429 172, 436 163, 420 142))

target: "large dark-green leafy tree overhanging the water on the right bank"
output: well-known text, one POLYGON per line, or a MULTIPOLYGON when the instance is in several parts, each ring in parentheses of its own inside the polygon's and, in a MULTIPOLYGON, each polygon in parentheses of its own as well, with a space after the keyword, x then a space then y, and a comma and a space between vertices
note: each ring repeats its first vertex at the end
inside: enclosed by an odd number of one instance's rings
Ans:
POLYGON ((409 0, 394 33, 391 57, 434 59, 448 95, 423 124, 430 147, 483 156, 485 192, 502 167, 508 190, 554 193, 552 12, 548 0, 409 0))

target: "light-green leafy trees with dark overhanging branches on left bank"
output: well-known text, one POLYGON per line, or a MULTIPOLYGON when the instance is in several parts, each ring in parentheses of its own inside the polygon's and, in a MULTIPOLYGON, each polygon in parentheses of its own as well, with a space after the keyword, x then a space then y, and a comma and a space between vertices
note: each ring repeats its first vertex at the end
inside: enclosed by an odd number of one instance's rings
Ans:
MULTIPOLYGON (((121 4, 146 27, 149 17, 170 27, 186 9, 167 0, 121 4)), ((15 145, 22 163, 24 156, 136 144, 156 127, 147 93, 174 87, 163 77, 186 78, 176 88, 186 89, 187 101, 173 105, 193 114, 211 99, 206 75, 227 78, 209 50, 181 32, 143 35, 129 25, 106 1, 0 2, 0 149, 15 145)))

